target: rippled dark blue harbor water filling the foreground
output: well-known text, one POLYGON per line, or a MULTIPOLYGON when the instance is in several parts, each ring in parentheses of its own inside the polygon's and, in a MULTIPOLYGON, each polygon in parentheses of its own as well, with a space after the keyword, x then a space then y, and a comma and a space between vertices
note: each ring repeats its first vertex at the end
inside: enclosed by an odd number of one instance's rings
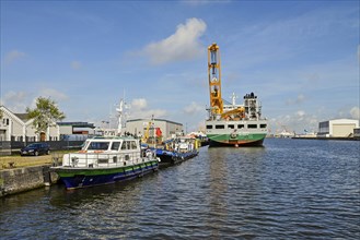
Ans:
POLYGON ((360 239, 360 142, 201 147, 135 181, 0 199, 0 239, 360 239))

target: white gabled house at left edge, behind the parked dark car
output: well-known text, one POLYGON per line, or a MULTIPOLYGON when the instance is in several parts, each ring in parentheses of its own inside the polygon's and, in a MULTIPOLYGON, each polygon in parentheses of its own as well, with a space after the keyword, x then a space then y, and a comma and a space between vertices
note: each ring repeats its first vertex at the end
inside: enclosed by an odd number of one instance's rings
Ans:
POLYGON ((60 136, 59 125, 55 124, 39 135, 35 133, 33 119, 27 119, 26 113, 13 113, 4 106, 0 106, 2 118, 0 119, 0 141, 58 141, 60 136))

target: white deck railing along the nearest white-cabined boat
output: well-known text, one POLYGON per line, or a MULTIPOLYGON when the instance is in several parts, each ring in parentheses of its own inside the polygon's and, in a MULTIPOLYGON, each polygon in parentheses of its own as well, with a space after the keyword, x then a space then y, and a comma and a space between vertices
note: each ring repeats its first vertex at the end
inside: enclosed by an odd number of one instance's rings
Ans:
POLYGON ((147 163, 154 159, 149 152, 143 157, 139 152, 128 153, 74 153, 63 156, 62 166, 74 168, 124 167, 147 163))

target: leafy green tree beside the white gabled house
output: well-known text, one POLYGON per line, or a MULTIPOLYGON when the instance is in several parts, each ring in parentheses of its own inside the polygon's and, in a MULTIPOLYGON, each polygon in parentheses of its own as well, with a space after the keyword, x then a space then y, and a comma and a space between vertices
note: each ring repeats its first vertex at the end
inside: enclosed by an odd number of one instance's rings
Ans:
POLYGON ((65 113, 56 106, 56 103, 45 97, 38 97, 36 108, 31 109, 27 107, 26 113, 30 119, 34 119, 33 125, 37 134, 46 132, 47 128, 56 125, 57 121, 66 118, 65 113))

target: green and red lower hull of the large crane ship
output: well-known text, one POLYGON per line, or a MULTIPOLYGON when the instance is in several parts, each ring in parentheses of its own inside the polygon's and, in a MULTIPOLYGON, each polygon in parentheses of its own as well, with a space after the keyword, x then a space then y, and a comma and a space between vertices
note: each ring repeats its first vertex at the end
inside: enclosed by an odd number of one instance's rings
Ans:
POLYGON ((210 145, 262 145, 266 133, 249 134, 208 134, 210 145))

